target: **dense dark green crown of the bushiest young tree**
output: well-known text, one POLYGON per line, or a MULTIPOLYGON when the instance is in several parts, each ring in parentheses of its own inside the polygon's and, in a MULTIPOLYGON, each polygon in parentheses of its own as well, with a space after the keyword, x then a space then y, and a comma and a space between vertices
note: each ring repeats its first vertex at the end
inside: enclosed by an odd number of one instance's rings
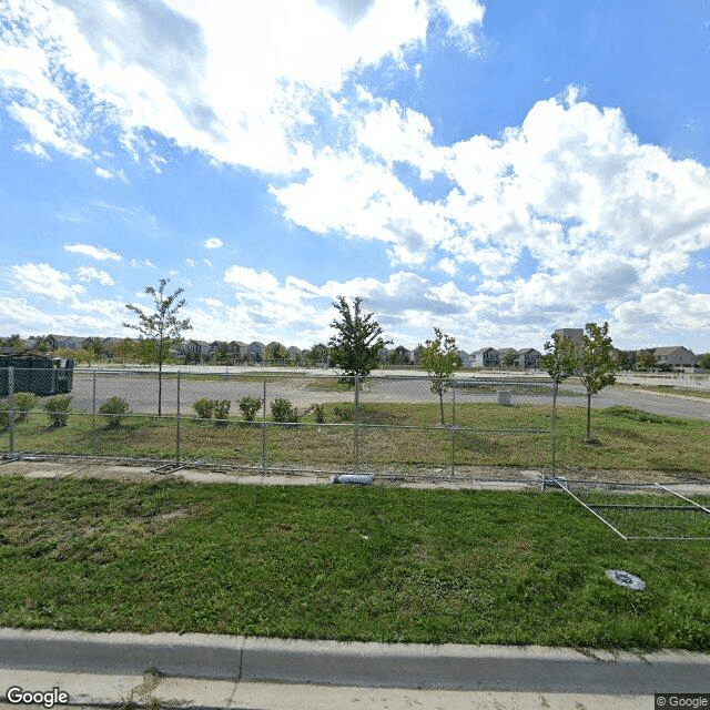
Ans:
POLYGON ((373 318, 373 313, 363 315, 363 300, 357 296, 353 307, 344 296, 338 296, 333 306, 341 314, 331 327, 335 335, 328 341, 331 362, 344 371, 342 382, 353 383, 353 377, 366 377, 377 363, 377 354, 390 341, 382 338, 382 326, 373 318))

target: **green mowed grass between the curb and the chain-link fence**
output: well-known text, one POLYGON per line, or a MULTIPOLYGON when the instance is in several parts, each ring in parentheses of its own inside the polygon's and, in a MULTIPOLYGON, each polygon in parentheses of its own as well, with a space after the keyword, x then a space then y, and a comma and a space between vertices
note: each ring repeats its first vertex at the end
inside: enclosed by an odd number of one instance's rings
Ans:
POLYGON ((2 626, 710 650, 707 544, 623 542, 559 491, 0 477, 0 504, 2 626))

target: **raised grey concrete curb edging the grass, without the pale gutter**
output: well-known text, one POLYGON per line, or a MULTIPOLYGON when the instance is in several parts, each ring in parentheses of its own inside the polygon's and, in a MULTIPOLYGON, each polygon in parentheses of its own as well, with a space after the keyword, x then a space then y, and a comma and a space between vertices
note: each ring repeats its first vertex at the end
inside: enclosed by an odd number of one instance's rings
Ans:
POLYGON ((706 692, 710 656, 0 629, 0 668, 139 676, 153 668, 233 682, 638 694, 706 692))

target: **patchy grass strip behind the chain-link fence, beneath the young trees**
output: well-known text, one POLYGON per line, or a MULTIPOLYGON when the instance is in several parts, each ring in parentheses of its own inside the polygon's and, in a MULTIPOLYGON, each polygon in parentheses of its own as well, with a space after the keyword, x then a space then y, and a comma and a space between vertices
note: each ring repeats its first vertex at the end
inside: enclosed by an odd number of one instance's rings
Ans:
MULTIPOLYGON (((302 424, 266 428, 267 464, 348 466, 355 457, 352 403, 323 405, 327 425, 317 425, 315 410, 302 424)), ((708 476, 710 424, 615 406, 592 410, 594 444, 585 443, 584 407, 558 406, 557 465, 600 470, 668 471, 682 478, 708 476)), ((450 404, 445 407, 450 424, 450 404)), ((273 423, 272 423, 273 424, 273 423)), ((442 427, 438 404, 362 405, 358 457, 363 465, 450 466, 452 436, 442 427), (413 427, 413 428, 396 428, 413 427)), ((551 460, 551 412, 549 406, 495 403, 458 404, 454 455, 459 466, 548 467, 551 460)), ((176 420, 133 415, 118 428, 93 426, 87 413, 72 413, 69 425, 49 426, 36 412, 16 427, 14 446, 20 452, 49 454, 99 454, 135 458, 170 459, 175 456, 176 420)), ((7 450, 8 434, 0 435, 7 450)), ((181 453, 190 460, 254 465, 261 462, 261 423, 226 423, 183 417, 181 453)))

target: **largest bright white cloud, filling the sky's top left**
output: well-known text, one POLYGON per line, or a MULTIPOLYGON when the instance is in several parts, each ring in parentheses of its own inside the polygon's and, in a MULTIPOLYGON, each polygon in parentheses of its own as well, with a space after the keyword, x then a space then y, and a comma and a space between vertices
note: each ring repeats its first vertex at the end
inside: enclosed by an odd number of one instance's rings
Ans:
POLYGON ((91 159, 90 135, 112 125, 160 170, 148 128, 220 162, 284 173, 307 158, 297 136, 313 102, 385 59, 404 68, 436 13, 459 33, 483 20, 471 0, 12 3, 0 81, 38 146, 91 159))

